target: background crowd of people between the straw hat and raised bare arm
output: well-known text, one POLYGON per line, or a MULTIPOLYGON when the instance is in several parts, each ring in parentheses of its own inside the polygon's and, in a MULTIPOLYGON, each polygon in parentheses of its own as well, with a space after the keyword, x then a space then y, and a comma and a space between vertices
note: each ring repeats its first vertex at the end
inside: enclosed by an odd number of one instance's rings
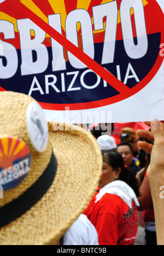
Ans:
POLYGON ((118 139, 114 124, 111 135, 106 134, 106 125, 90 125, 102 151, 103 171, 84 214, 96 228, 99 245, 157 245, 147 175, 151 152, 145 147, 153 147, 154 137, 150 126, 138 131, 126 127, 128 123, 124 126, 118 139))

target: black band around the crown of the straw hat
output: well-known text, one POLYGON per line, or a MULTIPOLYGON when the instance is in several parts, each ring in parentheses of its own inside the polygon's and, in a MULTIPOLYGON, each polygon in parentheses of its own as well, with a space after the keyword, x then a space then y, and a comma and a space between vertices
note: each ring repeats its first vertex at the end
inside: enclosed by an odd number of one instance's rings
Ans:
POLYGON ((56 170, 57 161, 52 153, 48 167, 36 183, 17 199, 0 208, 0 228, 21 217, 43 197, 54 181, 56 170))

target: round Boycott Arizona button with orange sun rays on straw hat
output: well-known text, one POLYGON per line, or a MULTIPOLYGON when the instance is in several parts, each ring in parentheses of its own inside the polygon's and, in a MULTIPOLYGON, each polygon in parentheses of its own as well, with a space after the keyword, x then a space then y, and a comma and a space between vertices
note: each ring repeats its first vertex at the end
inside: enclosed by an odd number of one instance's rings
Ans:
POLYGON ((0 185, 15 188, 30 171, 31 155, 25 142, 13 136, 0 137, 0 185))

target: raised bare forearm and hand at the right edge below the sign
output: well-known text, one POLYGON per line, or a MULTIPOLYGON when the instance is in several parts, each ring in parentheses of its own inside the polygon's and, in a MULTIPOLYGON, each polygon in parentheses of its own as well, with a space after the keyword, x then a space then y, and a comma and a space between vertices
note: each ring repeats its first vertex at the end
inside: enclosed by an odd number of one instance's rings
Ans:
MULTIPOLYGON (((145 124, 150 125, 150 123, 145 124)), ((145 141, 139 142, 139 147, 151 154, 147 177, 154 205, 157 245, 164 245, 164 125, 154 119, 151 121, 151 131, 138 130, 137 134, 154 141, 154 145, 145 141)))

